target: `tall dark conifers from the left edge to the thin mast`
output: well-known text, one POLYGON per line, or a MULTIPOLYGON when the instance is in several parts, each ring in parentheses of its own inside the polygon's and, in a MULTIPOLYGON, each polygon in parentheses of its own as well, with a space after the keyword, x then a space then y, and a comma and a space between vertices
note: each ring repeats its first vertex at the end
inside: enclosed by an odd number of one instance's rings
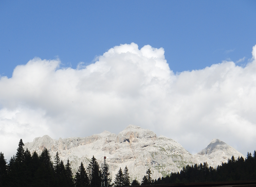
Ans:
POLYGON ((101 170, 94 156, 86 170, 81 162, 73 175, 69 159, 64 164, 58 152, 52 162, 46 148, 38 155, 25 151, 23 146, 21 139, 8 164, 0 152, 0 187, 101 187, 101 182, 111 182, 108 168, 101 170))

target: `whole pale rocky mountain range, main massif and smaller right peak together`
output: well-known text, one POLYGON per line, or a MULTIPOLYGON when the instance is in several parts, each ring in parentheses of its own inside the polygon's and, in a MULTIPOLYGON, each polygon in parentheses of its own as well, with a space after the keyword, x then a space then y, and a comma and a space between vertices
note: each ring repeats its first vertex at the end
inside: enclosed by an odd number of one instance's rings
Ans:
POLYGON ((131 179, 136 178, 139 181, 149 167, 152 178, 157 179, 171 172, 178 172, 187 164, 208 162, 209 165, 216 167, 232 155, 242 156, 218 139, 214 139, 201 152, 192 155, 171 138, 157 137, 153 131, 133 125, 129 125, 118 135, 104 131, 88 137, 59 140, 53 140, 45 135, 35 138, 33 142, 25 143, 24 148, 39 154, 47 148, 52 160, 58 151, 64 163, 69 159, 74 172, 81 162, 87 167, 93 155, 101 165, 106 155, 112 179, 120 167, 123 169, 127 166, 131 179))

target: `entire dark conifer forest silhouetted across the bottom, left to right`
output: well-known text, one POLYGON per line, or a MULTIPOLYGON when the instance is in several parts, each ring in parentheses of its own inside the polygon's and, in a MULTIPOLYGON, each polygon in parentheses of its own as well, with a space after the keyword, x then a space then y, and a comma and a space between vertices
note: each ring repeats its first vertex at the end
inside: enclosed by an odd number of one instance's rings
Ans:
POLYGON ((216 168, 203 164, 187 165, 180 172, 174 172, 166 177, 152 179, 148 168, 143 180, 130 180, 128 168, 118 170, 112 182, 107 165, 99 167, 96 158, 91 158, 85 169, 81 162, 76 173, 72 173, 69 160, 63 163, 56 153, 54 161, 51 160, 45 148, 38 155, 24 150, 22 139, 19 142, 16 155, 7 163, 4 154, 0 152, 0 187, 121 187, 150 184, 188 183, 188 182, 222 182, 256 180, 256 151, 247 157, 234 156, 226 163, 216 168))

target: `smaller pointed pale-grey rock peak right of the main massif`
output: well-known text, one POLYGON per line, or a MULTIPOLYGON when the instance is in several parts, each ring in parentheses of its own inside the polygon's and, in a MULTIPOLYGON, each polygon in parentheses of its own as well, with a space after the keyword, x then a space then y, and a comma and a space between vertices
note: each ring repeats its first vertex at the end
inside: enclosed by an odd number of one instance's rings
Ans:
POLYGON ((242 153, 236 151, 233 147, 219 139, 213 139, 206 148, 194 156, 198 163, 207 162, 208 165, 212 167, 217 167, 221 165, 222 162, 227 162, 232 156, 234 156, 235 159, 238 157, 245 158, 242 153))

